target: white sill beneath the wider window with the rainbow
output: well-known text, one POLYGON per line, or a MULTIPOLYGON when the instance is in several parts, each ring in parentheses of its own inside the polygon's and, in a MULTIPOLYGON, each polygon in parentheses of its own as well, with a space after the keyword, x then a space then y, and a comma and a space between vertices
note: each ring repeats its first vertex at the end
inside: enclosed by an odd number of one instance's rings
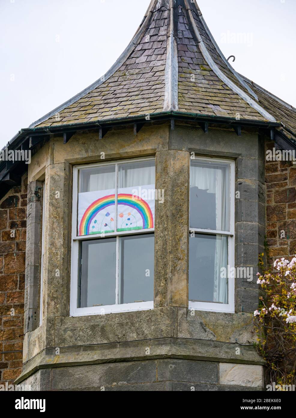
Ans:
POLYGON ((90 316, 116 314, 119 312, 148 311, 154 308, 154 302, 124 303, 122 305, 94 306, 90 308, 76 308, 70 316, 90 316))

